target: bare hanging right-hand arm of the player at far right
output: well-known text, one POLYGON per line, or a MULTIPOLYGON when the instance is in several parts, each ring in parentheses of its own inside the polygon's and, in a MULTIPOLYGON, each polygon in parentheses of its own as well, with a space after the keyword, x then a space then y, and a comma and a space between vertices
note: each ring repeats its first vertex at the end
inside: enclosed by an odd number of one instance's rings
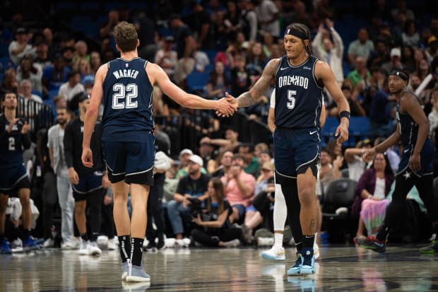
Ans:
POLYGON ((429 121, 422 110, 420 103, 413 94, 404 93, 400 99, 400 110, 407 112, 414 120, 415 124, 418 124, 418 136, 417 142, 410 158, 410 168, 412 170, 420 170, 420 152, 422 146, 425 144, 427 135, 429 134, 429 121))

